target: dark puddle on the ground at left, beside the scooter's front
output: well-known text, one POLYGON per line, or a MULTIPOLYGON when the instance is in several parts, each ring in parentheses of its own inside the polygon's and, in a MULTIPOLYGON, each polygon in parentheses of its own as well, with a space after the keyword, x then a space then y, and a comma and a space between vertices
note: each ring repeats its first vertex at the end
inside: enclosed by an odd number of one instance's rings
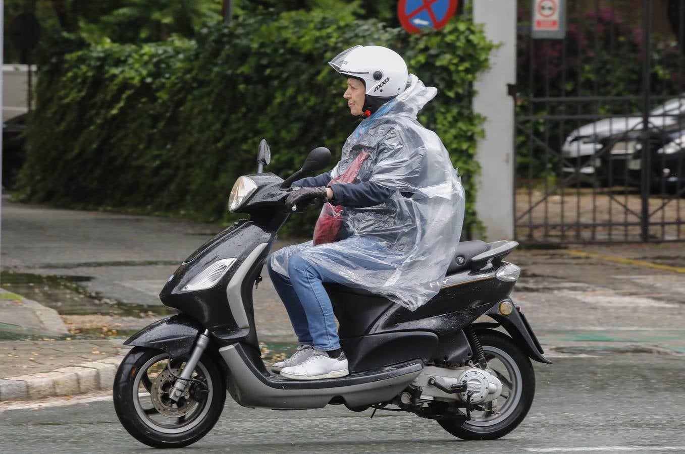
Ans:
POLYGON ((163 316, 176 314, 171 307, 123 303, 105 298, 82 285, 88 276, 42 276, 0 272, 0 287, 51 307, 60 315, 163 316))

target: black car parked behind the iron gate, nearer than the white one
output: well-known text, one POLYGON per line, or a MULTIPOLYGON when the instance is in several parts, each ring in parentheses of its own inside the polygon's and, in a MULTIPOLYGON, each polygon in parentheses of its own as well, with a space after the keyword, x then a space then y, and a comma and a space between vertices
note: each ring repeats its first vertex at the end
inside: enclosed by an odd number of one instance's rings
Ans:
MULTIPOLYGON (((641 186, 643 166, 642 131, 608 136, 593 168, 604 186, 641 186)), ((685 188, 685 123, 649 131, 649 183, 659 190, 685 188)))

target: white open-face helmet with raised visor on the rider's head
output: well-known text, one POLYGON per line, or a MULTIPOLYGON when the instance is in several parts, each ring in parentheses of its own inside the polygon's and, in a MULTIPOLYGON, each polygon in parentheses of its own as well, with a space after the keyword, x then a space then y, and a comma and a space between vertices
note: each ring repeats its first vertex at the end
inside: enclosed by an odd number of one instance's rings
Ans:
MULTIPOLYGON (((355 46, 340 52, 328 62, 338 73, 364 82, 364 110, 375 111, 407 87, 404 59, 382 46, 355 46)), ((367 115, 368 116, 368 115, 367 115)))

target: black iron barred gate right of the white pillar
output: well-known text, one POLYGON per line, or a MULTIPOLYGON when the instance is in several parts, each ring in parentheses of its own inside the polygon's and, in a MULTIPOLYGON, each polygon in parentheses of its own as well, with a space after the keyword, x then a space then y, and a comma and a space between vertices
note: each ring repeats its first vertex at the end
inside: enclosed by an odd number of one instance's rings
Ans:
POLYGON ((685 5, 569 0, 561 40, 519 1, 516 238, 685 240, 685 5))

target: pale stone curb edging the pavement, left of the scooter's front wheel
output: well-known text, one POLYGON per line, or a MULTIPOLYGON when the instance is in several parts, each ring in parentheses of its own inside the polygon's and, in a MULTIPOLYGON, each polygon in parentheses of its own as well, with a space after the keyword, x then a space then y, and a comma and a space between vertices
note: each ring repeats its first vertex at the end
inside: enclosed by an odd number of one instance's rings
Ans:
POLYGON ((51 372, 0 379, 0 403, 111 390, 116 368, 124 359, 125 353, 127 352, 122 351, 116 356, 82 362, 51 372))

